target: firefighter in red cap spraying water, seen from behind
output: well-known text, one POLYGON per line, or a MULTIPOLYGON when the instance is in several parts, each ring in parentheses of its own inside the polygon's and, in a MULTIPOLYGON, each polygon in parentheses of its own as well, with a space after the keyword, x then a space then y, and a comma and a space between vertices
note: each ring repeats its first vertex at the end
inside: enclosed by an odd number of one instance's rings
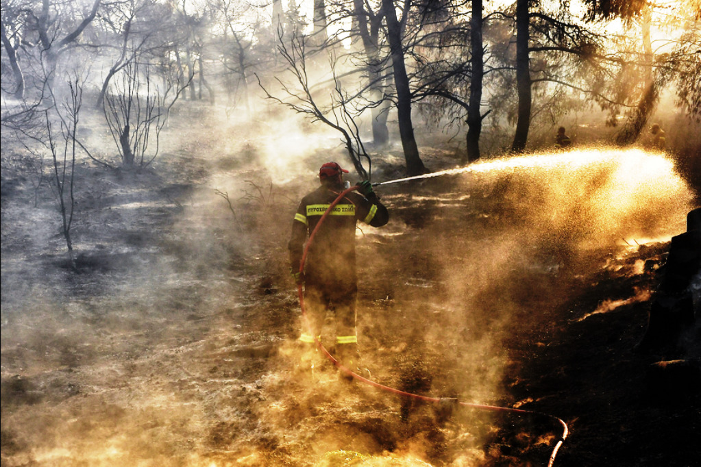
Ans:
POLYGON ((355 298, 358 276, 355 271, 355 223, 361 221, 381 227, 389 220, 369 181, 358 183, 358 192, 346 194, 325 218, 316 232, 305 260, 304 272, 299 266, 304 244, 321 216, 344 189, 342 169, 336 162, 327 162, 319 169, 320 187, 302 198, 294 214, 290 250, 290 272, 297 284, 304 283, 306 322, 299 340, 315 349, 314 338, 320 339, 329 307, 335 311, 336 342, 334 354, 346 368, 358 365, 358 335, 355 330, 355 298))

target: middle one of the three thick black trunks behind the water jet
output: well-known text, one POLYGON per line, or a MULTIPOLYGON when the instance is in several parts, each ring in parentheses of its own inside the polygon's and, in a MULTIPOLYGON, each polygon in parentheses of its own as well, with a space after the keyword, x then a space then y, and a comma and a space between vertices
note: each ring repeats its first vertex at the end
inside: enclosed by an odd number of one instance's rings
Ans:
POLYGON ((482 0, 472 0, 470 19, 470 53, 472 53, 472 79, 468 104, 467 160, 479 159, 479 135, 482 134, 482 79, 484 78, 484 48, 482 46, 482 0))

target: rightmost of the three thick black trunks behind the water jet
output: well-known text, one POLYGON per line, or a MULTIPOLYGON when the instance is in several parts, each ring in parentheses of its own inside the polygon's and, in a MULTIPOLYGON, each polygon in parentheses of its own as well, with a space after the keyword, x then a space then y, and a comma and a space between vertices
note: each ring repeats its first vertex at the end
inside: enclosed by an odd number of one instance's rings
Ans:
POLYGON ((526 149, 531 126, 531 65, 529 60, 529 0, 516 3, 516 87, 519 96, 516 133, 511 145, 512 153, 526 149))

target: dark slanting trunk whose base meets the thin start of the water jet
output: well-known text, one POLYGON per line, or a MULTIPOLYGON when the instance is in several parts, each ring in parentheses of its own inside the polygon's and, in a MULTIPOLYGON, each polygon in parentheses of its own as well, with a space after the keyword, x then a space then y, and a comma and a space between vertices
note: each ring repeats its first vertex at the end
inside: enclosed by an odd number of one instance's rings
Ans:
POLYGON ((397 118, 399 120, 402 148, 404 149, 404 159, 407 161, 407 174, 409 176, 421 175, 426 173, 426 167, 424 167, 418 154, 418 146, 414 138, 414 126, 411 123, 411 89, 409 88, 407 67, 404 64, 402 27, 397 20, 397 13, 392 0, 382 0, 382 8, 387 22, 387 37, 390 43, 395 87, 397 88, 397 118))

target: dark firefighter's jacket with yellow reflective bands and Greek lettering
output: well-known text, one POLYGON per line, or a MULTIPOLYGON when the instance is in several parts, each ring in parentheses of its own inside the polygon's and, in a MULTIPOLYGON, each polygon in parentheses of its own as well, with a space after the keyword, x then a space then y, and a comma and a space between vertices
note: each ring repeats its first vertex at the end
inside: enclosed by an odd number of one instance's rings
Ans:
MULTIPOLYGON (((320 186, 302 198, 294 215, 290 249, 292 270, 299 271, 304 243, 329 205, 340 192, 320 186)), ((361 221, 381 227, 389 220, 387 208, 372 193, 369 199, 356 192, 347 193, 329 213, 316 232, 305 260, 307 283, 355 285, 355 223, 361 221)))

